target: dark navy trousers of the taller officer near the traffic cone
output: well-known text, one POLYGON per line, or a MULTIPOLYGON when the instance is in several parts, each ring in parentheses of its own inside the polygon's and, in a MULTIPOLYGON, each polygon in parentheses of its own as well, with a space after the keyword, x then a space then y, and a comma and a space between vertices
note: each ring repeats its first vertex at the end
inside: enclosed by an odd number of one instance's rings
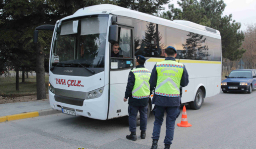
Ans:
POLYGON ((161 126, 164 121, 164 114, 166 111, 166 134, 165 134, 165 144, 172 144, 173 136, 174 136, 174 125, 176 119, 180 115, 180 107, 163 107, 155 105, 153 113, 155 115, 154 129, 153 129, 153 137, 152 139, 159 140, 161 126))

